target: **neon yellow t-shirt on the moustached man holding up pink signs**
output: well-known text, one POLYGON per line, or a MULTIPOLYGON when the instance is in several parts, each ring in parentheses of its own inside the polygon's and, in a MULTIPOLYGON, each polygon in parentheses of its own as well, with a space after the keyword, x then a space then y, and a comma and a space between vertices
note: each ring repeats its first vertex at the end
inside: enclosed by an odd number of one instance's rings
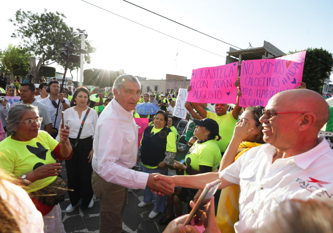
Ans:
POLYGON ((222 137, 221 140, 216 141, 221 152, 225 152, 229 142, 231 141, 233 130, 236 126, 236 119, 232 116, 232 111, 223 116, 217 116, 216 113, 207 111, 207 118, 213 119, 218 124, 218 133, 222 137))

